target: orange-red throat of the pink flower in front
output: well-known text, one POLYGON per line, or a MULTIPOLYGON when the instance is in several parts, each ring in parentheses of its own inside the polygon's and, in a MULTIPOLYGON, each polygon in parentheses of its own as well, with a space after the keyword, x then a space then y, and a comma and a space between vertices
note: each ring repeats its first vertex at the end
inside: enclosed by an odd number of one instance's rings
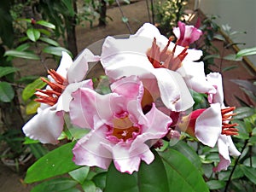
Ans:
POLYGON ((119 140, 126 141, 130 138, 135 138, 140 134, 140 127, 134 125, 127 115, 118 119, 113 119, 113 127, 110 135, 119 140))

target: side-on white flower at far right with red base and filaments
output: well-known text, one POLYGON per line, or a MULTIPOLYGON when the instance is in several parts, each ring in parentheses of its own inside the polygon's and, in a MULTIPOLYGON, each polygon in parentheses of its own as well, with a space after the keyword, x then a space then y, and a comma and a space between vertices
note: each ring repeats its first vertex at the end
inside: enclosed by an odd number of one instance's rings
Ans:
POLYGON ((230 155, 240 155, 230 137, 237 135, 238 130, 235 128, 237 124, 229 124, 235 108, 224 106, 221 75, 210 73, 207 75, 207 80, 214 85, 217 93, 208 97, 211 103, 210 108, 192 112, 188 131, 209 147, 213 148, 217 143, 220 161, 218 166, 213 168, 213 171, 219 172, 230 166, 230 155))

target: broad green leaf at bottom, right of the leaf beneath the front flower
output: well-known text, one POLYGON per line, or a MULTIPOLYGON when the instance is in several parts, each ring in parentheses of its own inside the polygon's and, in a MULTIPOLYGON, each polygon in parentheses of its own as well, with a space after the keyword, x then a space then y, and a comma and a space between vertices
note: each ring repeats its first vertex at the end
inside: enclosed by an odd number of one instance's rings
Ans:
POLYGON ((201 173, 181 153, 169 149, 160 156, 166 166, 169 181, 169 192, 206 192, 207 184, 201 177, 201 173))

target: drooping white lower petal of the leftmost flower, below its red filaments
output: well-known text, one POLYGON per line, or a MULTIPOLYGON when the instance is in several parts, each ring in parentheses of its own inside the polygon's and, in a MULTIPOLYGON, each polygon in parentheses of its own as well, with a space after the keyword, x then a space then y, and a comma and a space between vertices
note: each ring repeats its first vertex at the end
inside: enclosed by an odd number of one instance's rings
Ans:
POLYGON ((63 113, 57 112, 55 106, 45 108, 23 126, 26 137, 39 140, 41 143, 59 143, 58 137, 63 130, 63 113))

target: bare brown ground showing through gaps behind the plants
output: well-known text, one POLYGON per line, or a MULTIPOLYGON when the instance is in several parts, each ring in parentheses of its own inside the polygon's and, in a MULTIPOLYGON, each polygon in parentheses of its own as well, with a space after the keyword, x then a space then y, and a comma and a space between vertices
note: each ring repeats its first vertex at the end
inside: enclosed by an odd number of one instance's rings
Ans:
MULTIPOLYGON (((122 6, 124 14, 129 18, 129 23, 132 32, 136 32, 137 29, 143 25, 144 22, 148 22, 148 12, 146 1, 140 0, 136 3, 131 3, 130 5, 122 6)), ((92 29, 88 27, 78 26, 77 27, 77 43, 79 52, 90 44, 95 43, 102 38, 106 38, 108 35, 119 35, 128 34, 129 30, 121 20, 121 14, 117 7, 108 9, 108 16, 112 20, 108 20, 108 26, 106 27, 94 27, 92 29)), ((220 45, 221 46, 221 45, 220 45)), ((234 50, 229 50, 234 51, 234 50)), ((56 63, 46 63, 46 65, 51 67, 56 67, 56 63)), ((224 65, 229 65, 225 64, 224 65)), ((19 61, 16 62, 16 66, 20 67, 20 75, 44 75, 46 72, 44 67, 39 64, 32 63, 31 61, 19 61), (30 63, 29 63, 30 62, 30 63)), ((244 63, 240 63, 240 67, 234 71, 226 73, 226 79, 224 80, 225 91, 228 93, 227 100, 230 105, 238 105, 232 94, 241 94, 239 88, 235 84, 230 84, 229 79, 250 79, 253 77, 253 73, 249 73, 245 68, 244 63)), ((249 70, 250 71, 250 70, 249 70)), ((25 177, 25 172, 21 174, 16 174, 9 170, 9 168, 0 164, 0 191, 3 192, 28 192, 32 189, 32 185, 26 185, 22 183, 25 177)))

